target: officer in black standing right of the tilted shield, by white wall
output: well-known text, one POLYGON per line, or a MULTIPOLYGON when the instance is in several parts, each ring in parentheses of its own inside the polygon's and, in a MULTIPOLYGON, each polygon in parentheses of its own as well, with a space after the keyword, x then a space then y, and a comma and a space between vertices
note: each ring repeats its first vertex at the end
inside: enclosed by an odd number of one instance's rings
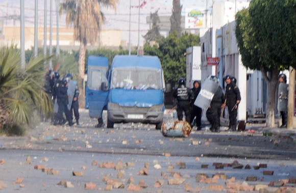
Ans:
POLYGON ((236 130, 236 117, 237 117, 237 108, 235 108, 237 100, 241 100, 240 92, 237 86, 234 84, 233 81, 230 84, 226 85, 225 89, 226 95, 226 106, 228 106, 229 112, 229 130, 235 131, 236 130))

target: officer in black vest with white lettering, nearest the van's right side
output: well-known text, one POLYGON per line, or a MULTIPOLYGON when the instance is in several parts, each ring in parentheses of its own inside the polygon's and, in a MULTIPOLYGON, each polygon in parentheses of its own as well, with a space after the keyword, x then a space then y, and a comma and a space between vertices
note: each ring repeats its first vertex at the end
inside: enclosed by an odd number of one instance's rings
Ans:
POLYGON ((185 112, 186 121, 190 123, 190 102, 194 99, 194 94, 191 89, 185 87, 185 79, 178 80, 179 87, 174 91, 173 96, 177 98, 178 108, 177 114, 179 121, 183 120, 183 111, 185 112))

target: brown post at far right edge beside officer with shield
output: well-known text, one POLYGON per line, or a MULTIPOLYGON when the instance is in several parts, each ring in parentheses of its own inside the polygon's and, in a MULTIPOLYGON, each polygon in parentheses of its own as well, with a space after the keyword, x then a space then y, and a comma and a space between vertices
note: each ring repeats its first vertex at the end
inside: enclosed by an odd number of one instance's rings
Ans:
POLYGON ((294 87, 295 87, 295 69, 290 66, 289 74, 289 94, 288 94, 288 123, 287 129, 293 129, 294 118, 294 87))

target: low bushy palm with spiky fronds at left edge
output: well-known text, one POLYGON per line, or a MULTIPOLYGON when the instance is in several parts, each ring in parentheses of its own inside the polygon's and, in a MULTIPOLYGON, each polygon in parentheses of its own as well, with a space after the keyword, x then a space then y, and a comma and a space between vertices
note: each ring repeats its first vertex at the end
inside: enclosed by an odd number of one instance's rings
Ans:
POLYGON ((20 66, 16 45, 0 45, 0 131, 9 124, 29 125, 35 110, 52 113, 51 99, 44 91, 44 61, 31 59, 26 69, 20 66))

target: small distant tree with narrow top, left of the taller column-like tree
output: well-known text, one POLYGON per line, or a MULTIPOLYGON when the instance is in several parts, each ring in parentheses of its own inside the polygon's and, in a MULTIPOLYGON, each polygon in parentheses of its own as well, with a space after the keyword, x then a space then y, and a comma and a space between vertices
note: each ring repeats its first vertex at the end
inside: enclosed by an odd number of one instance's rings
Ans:
POLYGON ((150 19, 152 20, 152 28, 143 37, 147 42, 160 40, 162 36, 159 33, 158 23, 160 22, 160 19, 158 17, 158 11, 150 13, 150 19))

